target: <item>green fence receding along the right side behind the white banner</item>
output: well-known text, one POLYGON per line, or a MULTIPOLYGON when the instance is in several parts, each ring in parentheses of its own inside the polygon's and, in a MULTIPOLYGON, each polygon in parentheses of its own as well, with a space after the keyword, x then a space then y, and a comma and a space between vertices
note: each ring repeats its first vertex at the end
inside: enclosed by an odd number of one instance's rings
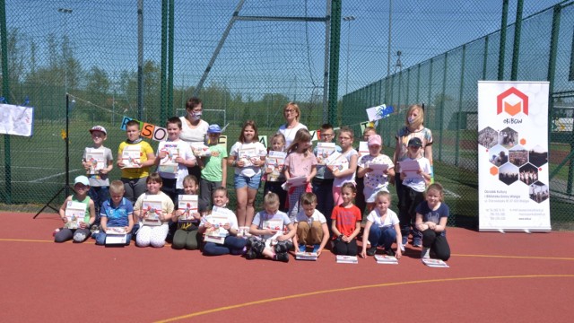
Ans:
MULTIPOLYGON (((501 9, 501 8, 500 8, 501 9)), ((462 9, 461 9, 462 10, 462 9)), ((574 134, 574 84, 572 70, 572 2, 556 4, 501 31, 465 42, 419 64, 400 68, 394 74, 344 95, 342 122, 353 124, 364 118, 365 107, 386 103, 396 113, 380 122, 384 142, 394 148, 396 130, 404 125, 413 102, 425 106, 425 126, 433 133, 436 179, 447 188, 446 199, 455 220, 472 218, 478 210, 477 87, 479 80, 550 81, 549 109, 551 214, 553 228, 571 228, 572 195, 570 167, 574 134), (506 46, 500 39, 506 37, 506 46), (499 61, 503 62, 502 65, 499 61), (513 63, 514 62, 514 63, 513 63)), ((458 31, 455 31, 458 32, 458 31)), ((400 57, 397 64, 400 64, 400 57)), ((544 131, 541 129, 541 131, 544 131)), ((389 152, 392 153, 392 152, 389 152)))

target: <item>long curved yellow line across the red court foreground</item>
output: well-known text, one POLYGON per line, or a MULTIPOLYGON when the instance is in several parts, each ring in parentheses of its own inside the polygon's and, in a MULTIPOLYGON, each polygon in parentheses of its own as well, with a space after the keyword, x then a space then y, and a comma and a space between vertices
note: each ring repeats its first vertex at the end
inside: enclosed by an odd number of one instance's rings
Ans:
POLYGON ((344 287, 344 288, 335 288, 335 289, 324 290, 324 291, 304 292, 304 293, 300 293, 300 294, 274 297, 274 298, 260 300, 260 301, 248 301, 248 302, 240 303, 240 304, 236 304, 236 305, 222 306, 222 307, 215 308, 212 310, 202 310, 202 311, 198 311, 196 313, 186 314, 186 315, 178 316, 175 318, 162 319, 162 320, 159 320, 156 322, 157 323, 173 322, 173 321, 180 320, 180 319, 191 319, 191 318, 195 318, 195 317, 198 317, 201 315, 216 313, 216 312, 220 312, 223 310, 234 310, 234 309, 238 309, 238 308, 242 308, 242 307, 265 304, 265 303, 269 303, 269 302, 273 302, 273 301, 285 301, 285 300, 291 300, 291 299, 295 299, 295 298, 308 297, 308 296, 314 296, 314 295, 320 295, 320 294, 326 294, 326 293, 349 292, 349 291, 356 291, 356 290, 367 289, 367 288, 399 286, 399 285, 406 285, 406 284, 446 283, 446 282, 460 282, 460 281, 486 280, 486 279, 559 278, 559 277, 574 278, 574 275, 508 275, 508 276, 485 276, 485 277, 460 277, 460 278, 442 278, 442 279, 430 279, 430 280, 420 280, 420 281, 411 281, 411 282, 397 282, 397 283, 352 286, 352 287, 344 287))

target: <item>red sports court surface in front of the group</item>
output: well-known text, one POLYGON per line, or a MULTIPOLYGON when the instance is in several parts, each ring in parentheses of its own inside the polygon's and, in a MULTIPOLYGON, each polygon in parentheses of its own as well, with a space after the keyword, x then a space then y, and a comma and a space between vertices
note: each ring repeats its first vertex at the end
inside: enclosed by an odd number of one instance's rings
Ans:
POLYGON ((448 228, 450 268, 288 264, 199 251, 56 244, 57 214, 0 213, 2 322, 570 322, 574 232, 448 228))

